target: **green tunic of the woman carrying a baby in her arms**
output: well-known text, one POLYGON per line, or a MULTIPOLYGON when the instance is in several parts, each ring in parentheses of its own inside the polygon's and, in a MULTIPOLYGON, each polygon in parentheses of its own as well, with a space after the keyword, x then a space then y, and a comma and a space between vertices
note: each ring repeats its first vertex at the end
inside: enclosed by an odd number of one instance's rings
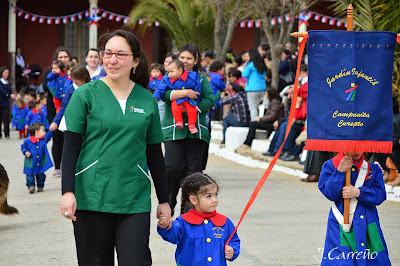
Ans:
MULTIPOLYGON (((165 92, 164 96, 162 97, 162 100, 165 102, 165 115, 162 127, 162 131, 164 133, 164 141, 181 140, 185 138, 201 139, 207 143, 210 141, 210 132, 208 132, 208 127, 206 124, 206 115, 207 110, 214 107, 214 94, 212 92, 211 85, 207 77, 199 74, 199 78, 201 81, 201 95, 200 102, 197 105, 198 110, 196 121, 196 127, 199 132, 196 134, 191 134, 187 126, 185 126, 183 129, 175 128, 174 117, 172 116, 171 112, 170 100, 172 90, 169 90, 165 92)), ((187 119, 187 115, 184 114, 183 121, 185 124, 187 124, 187 119)))

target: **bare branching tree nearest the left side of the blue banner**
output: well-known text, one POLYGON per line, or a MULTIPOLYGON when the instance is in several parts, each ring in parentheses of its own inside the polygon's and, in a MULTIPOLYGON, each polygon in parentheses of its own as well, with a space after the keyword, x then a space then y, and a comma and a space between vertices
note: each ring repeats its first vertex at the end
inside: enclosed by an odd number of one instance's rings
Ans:
POLYGON ((291 38, 295 16, 316 2, 317 0, 254 0, 255 11, 262 19, 263 30, 271 50, 272 87, 278 88, 280 58, 285 43, 291 38), (285 14, 290 15, 289 21, 286 21, 285 14), (281 17, 281 23, 272 25, 271 20, 275 16, 281 17))

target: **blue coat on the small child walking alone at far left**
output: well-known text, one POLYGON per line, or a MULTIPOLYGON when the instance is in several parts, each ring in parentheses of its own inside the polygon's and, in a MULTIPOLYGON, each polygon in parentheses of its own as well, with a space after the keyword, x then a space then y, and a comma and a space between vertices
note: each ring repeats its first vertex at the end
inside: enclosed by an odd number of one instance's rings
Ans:
POLYGON ((48 169, 53 167, 49 151, 47 150, 47 142, 53 136, 53 131, 48 131, 43 139, 37 139, 33 136, 24 140, 21 144, 22 154, 29 151, 31 157, 25 157, 24 161, 24 174, 36 175, 43 174, 48 169))

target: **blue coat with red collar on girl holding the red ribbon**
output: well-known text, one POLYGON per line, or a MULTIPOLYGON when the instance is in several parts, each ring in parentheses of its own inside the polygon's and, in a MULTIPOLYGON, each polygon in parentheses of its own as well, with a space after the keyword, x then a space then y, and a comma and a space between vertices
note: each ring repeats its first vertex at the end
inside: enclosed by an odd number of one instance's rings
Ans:
MULTIPOLYGON (((217 212, 212 214, 214 216, 204 218, 192 209, 176 218, 171 229, 157 227, 164 240, 177 244, 175 260, 178 265, 226 265, 224 247, 235 226, 226 216, 217 212)), ((233 261, 240 253, 237 232, 228 245, 234 250, 230 259, 233 261)))

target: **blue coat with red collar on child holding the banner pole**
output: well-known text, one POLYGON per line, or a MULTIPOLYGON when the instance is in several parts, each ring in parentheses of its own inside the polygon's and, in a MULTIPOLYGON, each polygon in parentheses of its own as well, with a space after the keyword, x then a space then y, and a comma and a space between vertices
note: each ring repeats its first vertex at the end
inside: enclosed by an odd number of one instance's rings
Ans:
MULTIPOLYGON (((342 188, 345 172, 337 170, 343 153, 324 163, 318 188, 324 196, 335 202, 343 214, 342 188)), ((354 186, 364 156, 351 168, 351 185, 354 186)), ((377 205, 386 200, 382 171, 376 164, 368 165, 364 184, 359 187, 360 196, 350 232, 339 226, 332 209, 321 265, 391 265, 385 239, 379 223, 377 205)))

